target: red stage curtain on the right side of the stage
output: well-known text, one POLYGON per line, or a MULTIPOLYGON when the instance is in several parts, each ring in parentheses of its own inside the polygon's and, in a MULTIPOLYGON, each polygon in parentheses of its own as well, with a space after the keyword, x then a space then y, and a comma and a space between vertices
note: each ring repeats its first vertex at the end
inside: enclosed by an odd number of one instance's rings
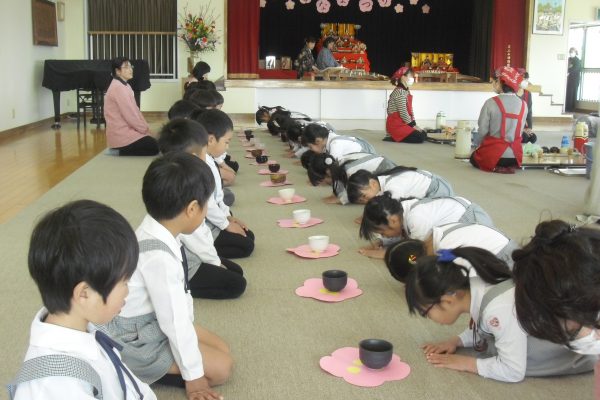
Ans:
POLYGON ((525 0, 495 0, 492 28, 492 68, 507 64, 510 45, 510 66, 525 67, 525 0))

